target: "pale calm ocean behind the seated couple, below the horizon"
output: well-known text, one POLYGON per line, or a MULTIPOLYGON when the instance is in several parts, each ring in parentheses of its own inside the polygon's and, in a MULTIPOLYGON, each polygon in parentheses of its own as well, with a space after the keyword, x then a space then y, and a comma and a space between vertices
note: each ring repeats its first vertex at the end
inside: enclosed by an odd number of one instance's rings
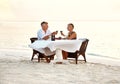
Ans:
MULTIPOLYGON (((67 34, 73 23, 78 38, 88 38, 87 55, 120 60, 120 21, 48 21, 51 31, 67 34)), ((0 22, 0 49, 31 50, 30 38, 37 36, 39 21, 0 22)), ((57 36, 60 36, 58 34, 57 36)))

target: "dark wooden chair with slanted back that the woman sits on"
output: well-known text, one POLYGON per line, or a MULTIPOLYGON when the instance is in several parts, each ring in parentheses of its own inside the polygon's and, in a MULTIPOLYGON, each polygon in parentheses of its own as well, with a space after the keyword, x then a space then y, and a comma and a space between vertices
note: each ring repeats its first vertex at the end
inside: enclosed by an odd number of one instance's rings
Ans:
POLYGON ((75 61, 76 61, 76 64, 77 64, 78 57, 81 55, 81 56, 83 56, 84 61, 86 62, 85 52, 86 52, 86 49, 87 49, 88 41, 89 41, 88 39, 85 39, 82 42, 79 51, 76 51, 75 53, 68 52, 68 58, 75 58, 75 61))

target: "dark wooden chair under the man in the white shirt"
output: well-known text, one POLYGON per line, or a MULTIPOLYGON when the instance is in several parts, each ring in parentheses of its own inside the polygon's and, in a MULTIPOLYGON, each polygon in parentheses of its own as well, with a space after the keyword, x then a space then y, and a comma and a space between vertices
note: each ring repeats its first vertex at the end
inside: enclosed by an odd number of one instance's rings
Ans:
MULTIPOLYGON (((38 40, 37 37, 30 38, 31 43, 33 43, 36 40, 38 40)), ((40 62, 40 59, 43 59, 43 58, 45 58, 48 63, 50 62, 50 60, 54 59, 54 55, 45 56, 44 54, 42 54, 42 53, 33 49, 33 54, 32 54, 31 61, 34 59, 35 55, 38 56, 38 62, 40 62)))

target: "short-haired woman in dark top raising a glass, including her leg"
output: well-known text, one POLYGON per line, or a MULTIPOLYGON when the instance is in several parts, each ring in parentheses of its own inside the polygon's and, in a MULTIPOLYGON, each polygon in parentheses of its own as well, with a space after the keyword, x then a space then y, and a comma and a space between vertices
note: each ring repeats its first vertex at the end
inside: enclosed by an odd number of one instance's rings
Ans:
MULTIPOLYGON (((77 34, 76 34, 76 32, 73 31, 73 29, 74 29, 74 25, 72 23, 70 23, 67 26, 67 30, 69 31, 68 35, 66 36, 65 34, 63 34, 62 31, 61 31, 61 35, 65 36, 66 39, 69 39, 69 40, 77 39, 77 34)), ((65 51, 62 51, 62 54, 63 54, 63 59, 67 59, 68 53, 65 51)))

